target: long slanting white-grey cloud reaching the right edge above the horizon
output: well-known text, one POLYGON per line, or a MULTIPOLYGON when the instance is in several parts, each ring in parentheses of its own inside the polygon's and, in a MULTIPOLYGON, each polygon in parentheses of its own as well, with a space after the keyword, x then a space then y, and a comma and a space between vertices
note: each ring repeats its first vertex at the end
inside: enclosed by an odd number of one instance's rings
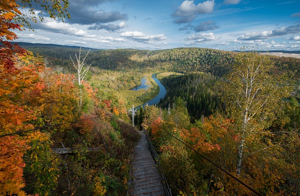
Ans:
POLYGON ((273 31, 263 31, 260 33, 252 32, 246 33, 238 38, 238 40, 254 40, 254 39, 269 39, 274 37, 285 36, 289 34, 299 34, 300 23, 298 25, 292 25, 289 27, 282 27, 273 31))

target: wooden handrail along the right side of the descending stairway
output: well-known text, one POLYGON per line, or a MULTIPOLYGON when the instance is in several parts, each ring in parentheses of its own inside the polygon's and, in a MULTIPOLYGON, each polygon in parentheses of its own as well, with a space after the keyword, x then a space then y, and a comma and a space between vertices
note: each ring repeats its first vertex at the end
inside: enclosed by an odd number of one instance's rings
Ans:
POLYGON ((143 130, 144 130, 144 133, 146 135, 146 138, 147 138, 147 141, 148 141, 148 145, 149 145, 150 150, 151 150, 151 154, 152 154, 152 156, 154 158, 154 161, 155 161, 156 165, 158 165, 158 170, 159 170, 159 174, 160 174, 160 177, 161 177, 163 188, 165 190, 165 194, 166 194, 166 196, 172 196, 171 189, 169 188, 169 184, 167 182, 167 179, 165 177, 163 169, 162 169, 162 167, 161 167, 161 165, 159 163, 159 157, 158 157, 157 153, 155 152, 154 147, 153 147, 153 145, 152 145, 152 143, 150 141, 148 132, 145 131, 145 129, 143 129, 143 130))

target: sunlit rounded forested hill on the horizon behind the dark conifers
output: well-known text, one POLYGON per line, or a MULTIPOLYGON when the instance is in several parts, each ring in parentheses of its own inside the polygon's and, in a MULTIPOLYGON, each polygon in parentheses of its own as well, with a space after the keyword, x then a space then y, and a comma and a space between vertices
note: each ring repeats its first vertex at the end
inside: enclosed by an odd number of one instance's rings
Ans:
POLYGON ((224 75, 233 62, 233 52, 208 48, 175 48, 156 50, 145 59, 148 66, 161 66, 167 71, 211 72, 224 75))

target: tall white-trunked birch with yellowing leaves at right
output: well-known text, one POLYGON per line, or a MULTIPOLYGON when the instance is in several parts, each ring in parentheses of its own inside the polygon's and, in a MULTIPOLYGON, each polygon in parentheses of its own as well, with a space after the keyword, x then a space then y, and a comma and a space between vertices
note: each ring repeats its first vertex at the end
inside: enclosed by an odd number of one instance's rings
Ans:
POLYGON ((268 74, 273 64, 268 55, 241 52, 235 58, 225 85, 226 113, 234 120, 237 140, 236 172, 241 172, 244 149, 250 140, 268 134, 275 106, 289 95, 279 78, 268 74))

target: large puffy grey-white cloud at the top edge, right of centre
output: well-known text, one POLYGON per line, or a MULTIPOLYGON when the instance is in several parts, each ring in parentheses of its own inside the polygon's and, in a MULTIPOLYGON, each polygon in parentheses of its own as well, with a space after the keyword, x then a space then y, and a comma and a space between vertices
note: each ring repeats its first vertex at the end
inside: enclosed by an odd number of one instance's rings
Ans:
POLYGON ((215 0, 207 0, 194 4, 193 0, 185 0, 172 14, 174 23, 182 24, 193 21, 199 14, 208 14, 214 11, 215 0))

